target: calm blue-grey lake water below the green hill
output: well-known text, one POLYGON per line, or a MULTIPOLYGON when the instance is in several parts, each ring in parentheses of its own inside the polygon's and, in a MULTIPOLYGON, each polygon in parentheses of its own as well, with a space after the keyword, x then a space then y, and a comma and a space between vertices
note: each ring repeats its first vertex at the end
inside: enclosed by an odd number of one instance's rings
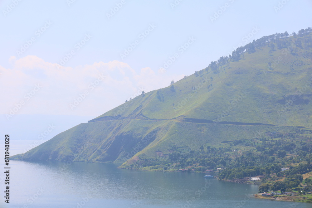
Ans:
MULTIPOLYGON (((204 179, 202 173, 144 172, 116 164, 10 161, 10 204, 0 207, 312 207, 250 197, 258 186, 204 179)), ((2 172, 2 171, 1 171, 2 172)))

